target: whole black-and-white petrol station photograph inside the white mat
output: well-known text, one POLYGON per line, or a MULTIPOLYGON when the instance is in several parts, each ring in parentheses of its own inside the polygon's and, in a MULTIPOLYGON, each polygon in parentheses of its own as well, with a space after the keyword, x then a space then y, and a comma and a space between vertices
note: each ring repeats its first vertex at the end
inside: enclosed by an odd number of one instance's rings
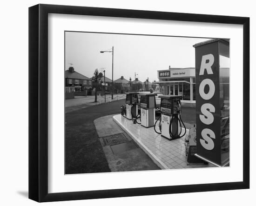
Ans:
POLYGON ((64 35, 65 174, 230 166, 229 39, 64 35))

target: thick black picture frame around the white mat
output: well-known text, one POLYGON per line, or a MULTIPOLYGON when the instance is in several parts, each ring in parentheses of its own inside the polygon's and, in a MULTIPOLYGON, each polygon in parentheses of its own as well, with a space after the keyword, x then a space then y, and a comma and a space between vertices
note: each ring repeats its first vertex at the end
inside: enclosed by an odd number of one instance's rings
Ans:
POLYGON ((249 188, 249 18, 39 4, 29 8, 29 199, 38 202, 99 199, 249 188), (79 14, 243 25, 243 181, 183 186, 48 193, 48 14, 79 14))

